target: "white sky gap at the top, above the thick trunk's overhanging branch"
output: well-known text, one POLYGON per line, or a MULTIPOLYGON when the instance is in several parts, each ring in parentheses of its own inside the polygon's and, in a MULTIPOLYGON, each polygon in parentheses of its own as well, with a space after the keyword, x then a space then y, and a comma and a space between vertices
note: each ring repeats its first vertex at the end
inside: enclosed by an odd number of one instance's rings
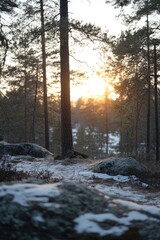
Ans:
POLYGON ((69 14, 78 20, 101 26, 111 35, 117 35, 122 29, 120 19, 116 18, 119 10, 105 4, 105 0, 70 0, 69 14))

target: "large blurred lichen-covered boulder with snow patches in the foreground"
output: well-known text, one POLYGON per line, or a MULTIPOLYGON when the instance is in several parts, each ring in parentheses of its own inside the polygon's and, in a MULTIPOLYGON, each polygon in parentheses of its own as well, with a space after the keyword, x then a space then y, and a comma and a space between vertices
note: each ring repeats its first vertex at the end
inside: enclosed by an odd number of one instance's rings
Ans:
POLYGON ((82 185, 0 186, 3 240, 159 240, 160 209, 82 185))

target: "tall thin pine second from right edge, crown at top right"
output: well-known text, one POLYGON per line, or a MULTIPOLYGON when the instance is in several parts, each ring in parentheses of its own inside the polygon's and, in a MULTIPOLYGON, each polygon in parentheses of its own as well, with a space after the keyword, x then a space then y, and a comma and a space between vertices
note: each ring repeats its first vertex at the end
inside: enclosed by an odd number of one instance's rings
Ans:
MULTIPOLYGON (((152 43, 152 38, 158 37, 159 34, 159 27, 154 21, 154 18, 151 18, 152 13, 158 13, 160 9, 160 2, 157 0, 146 0, 146 1, 137 1, 137 0, 122 0, 122 1, 106 1, 106 3, 112 3, 116 7, 124 7, 129 4, 132 4, 134 9, 134 14, 132 16, 127 17, 126 16, 126 23, 135 23, 135 28, 136 26, 139 25, 137 24, 138 21, 142 20, 141 22, 146 25, 145 29, 145 43, 146 43, 146 48, 144 47, 144 50, 146 50, 145 54, 145 59, 147 62, 147 69, 145 72, 147 72, 146 75, 146 80, 147 80, 147 95, 146 95, 146 103, 147 103, 147 122, 146 122, 146 152, 147 154, 150 153, 151 151, 151 142, 152 142, 152 135, 151 135, 151 118, 152 118, 152 105, 151 105, 151 100, 153 98, 153 85, 151 81, 151 75, 152 75, 152 66, 151 66, 151 43, 152 43), (143 21, 143 19, 146 19, 146 22, 143 21), (147 23, 147 24, 146 24, 147 23)), ((134 30, 132 30, 134 31, 134 30)), ((135 46, 136 47, 136 46, 135 46)))

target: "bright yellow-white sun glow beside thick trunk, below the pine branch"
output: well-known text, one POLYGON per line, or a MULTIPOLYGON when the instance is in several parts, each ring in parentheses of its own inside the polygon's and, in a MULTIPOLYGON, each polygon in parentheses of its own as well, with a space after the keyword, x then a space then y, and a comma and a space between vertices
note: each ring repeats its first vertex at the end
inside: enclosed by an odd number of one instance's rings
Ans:
POLYGON ((113 80, 106 75, 106 62, 102 58, 99 50, 99 45, 90 44, 88 47, 77 47, 75 59, 70 58, 70 67, 72 71, 82 72, 84 76, 79 78, 79 84, 76 82, 76 77, 72 77, 71 81, 71 101, 77 101, 79 98, 94 98, 98 100, 104 99, 106 96, 110 99, 116 99, 113 87, 113 80), (83 79, 84 78, 84 79, 83 79))

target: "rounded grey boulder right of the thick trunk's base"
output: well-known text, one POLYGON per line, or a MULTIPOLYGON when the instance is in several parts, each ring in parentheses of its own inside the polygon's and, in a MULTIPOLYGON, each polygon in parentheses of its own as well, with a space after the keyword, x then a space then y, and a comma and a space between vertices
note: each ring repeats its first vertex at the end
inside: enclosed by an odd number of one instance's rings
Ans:
POLYGON ((143 177, 150 174, 149 169, 142 163, 138 162, 134 158, 108 158, 99 163, 96 163, 92 167, 94 172, 106 173, 112 176, 123 175, 130 176, 135 175, 137 177, 143 177))

